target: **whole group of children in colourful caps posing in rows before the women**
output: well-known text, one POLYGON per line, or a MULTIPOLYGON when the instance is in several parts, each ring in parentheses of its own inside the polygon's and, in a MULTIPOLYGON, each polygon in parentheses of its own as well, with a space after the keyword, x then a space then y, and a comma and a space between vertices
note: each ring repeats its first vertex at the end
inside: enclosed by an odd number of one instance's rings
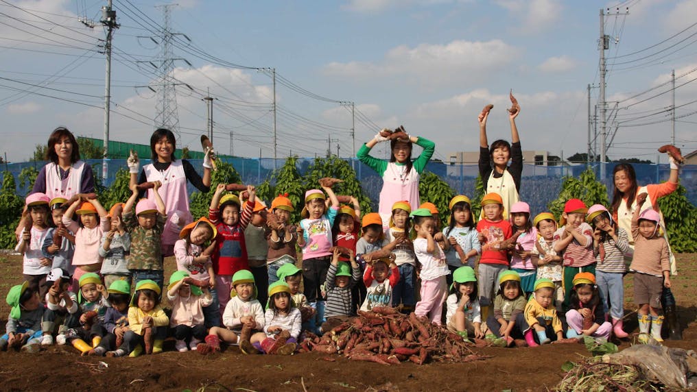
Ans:
MULTIPOLYGON (((159 186, 153 203, 137 201, 133 185, 109 212, 95 198, 27 197, 29 224, 17 246, 25 281, 8 293, 0 348, 36 350, 55 336, 83 354, 137 356, 161 352, 173 336, 178 351, 205 354, 224 342, 246 354, 291 354, 303 331, 321 334, 380 306, 501 346, 627 337, 627 233, 602 205, 569 200, 558 225, 549 212, 532 217, 524 202, 505 211, 491 193, 475 223, 470 199, 459 195, 441 227, 431 203, 399 201, 388 222, 377 213, 361 219, 355 198, 339 205, 323 186, 306 192, 294 225, 287 195, 267 208, 251 185, 240 196, 218 185, 208 217, 181 228, 164 291, 159 186)), ((661 288, 671 284, 659 222, 653 210, 634 214, 629 269, 641 340, 661 341, 661 288)))

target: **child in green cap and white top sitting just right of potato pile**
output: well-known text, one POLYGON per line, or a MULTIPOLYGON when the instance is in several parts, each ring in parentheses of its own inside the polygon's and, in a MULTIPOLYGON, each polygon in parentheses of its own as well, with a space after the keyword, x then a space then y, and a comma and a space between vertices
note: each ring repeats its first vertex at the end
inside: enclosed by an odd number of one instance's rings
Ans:
MULTIPOLYGON (((475 270, 467 265, 455 269, 450 295, 447 297, 448 331, 463 338, 484 338, 482 313, 477 301, 477 277, 475 270)), ((441 317, 438 317, 440 320, 441 317)))

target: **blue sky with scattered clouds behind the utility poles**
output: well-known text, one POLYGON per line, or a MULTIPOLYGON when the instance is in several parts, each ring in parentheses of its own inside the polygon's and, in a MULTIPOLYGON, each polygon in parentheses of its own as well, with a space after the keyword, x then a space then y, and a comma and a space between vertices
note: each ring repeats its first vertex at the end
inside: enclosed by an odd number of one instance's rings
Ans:
MULTIPOLYGON (((102 137, 98 107, 105 61, 96 45, 104 32, 79 24, 77 16, 98 19, 105 3, 0 1, 0 75, 6 78, 0 79, 0 153, 7 152, 10 161, 26 160, 58 125, 102 137), (22 92, 28 88, 54 98, 22 92)), ((273 155, 268 72, 194 56, 205 53, 251 68, 273 67, 279 77, 316 95, 355 102, 363 115, 356 121, 355 148, 376 126, 404 125, 435 141, 436 157, 447 160, 451 152, 477 149, 477 114, 488 103, 495 104, 489 139, 510 139, 504 109, 512 88, 522 107, 517 123, 524 150, 585 152, 586 85, 599 81, 599 9, 614 12, 618 3, 622 12, 629 7, 629 15, 608 16, 605 25, 612 37, 607 97, 619 102, 611 123, 620 124, 608 155, 656 159, 655 148, 670 140, 668 113, 661 111, 671 106, 671 94, 661 84, 672 69, 684 75, 676 86, 685 83, 675 91, 677 144, 684 152, 697 148, 697 116, 691 116, 697 103, 690 103, 697 93, 691 83, 697 72, 690 72, 697 65, 697 40, 691 37, 697 33, 691 26, 697 22, 696 0, 178 3, 172 29, 192 44, 178 43, 174 55, 191 66, 176 61, 174 77, 194 88, 177 87, 179 143, 192 149, 199 149, 206 127, 201 97, 210 89, 217 150, 229 152, 232 131, 235 155, 258 157, 260 148, 263 157, 273 155)), ((147 143, 153 130, 155 94, 143 86, 157 83, 147 61, 156 62, 158 47, 144 37, 162 24, 159 4, 114 0, 121 29, 114 36, 112 140, 147 143)), ((594 88, 592 104, 597 95, 594 88)), ((328 136, 333 152, 339 143, 339 155, 351 155, 346 107, 280 83, 277 101, 279 157, 323 155, 328 136)))

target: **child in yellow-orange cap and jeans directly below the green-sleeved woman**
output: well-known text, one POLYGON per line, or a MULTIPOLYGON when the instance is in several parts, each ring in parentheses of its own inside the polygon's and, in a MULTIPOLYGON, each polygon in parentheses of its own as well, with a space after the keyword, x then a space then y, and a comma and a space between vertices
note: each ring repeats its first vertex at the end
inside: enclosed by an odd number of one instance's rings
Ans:
POLYGON ((392 217, 385 239, 384 249, 395 253, 395 264, 399 267, 399 282, 392 290, 392 306, 402 304, 402 312, 410 313, 416 304, 416 255, 409 237, 411 230, 411 205, 398 201, 392 205, 392 217))

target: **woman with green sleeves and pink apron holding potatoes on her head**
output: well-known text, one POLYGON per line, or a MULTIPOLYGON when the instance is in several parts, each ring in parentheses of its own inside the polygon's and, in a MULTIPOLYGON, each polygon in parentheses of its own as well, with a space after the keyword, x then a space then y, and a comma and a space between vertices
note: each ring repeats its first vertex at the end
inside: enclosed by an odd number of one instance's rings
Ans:
POLYGON ((434 155, 436 144, 428 139, 409 135, 406 135, 404 139, 392 139, 390 141, 392 156, 390 162, 387 162, 384 159, 369 155, 370 149, 381 141, 388 141, 388 138, 381 136, 378 132, 373 139, 361 146, 360 150, 356 152, 356 157, 383 178, 378 212, 383 219, 383 225, 386 226, 392 215, 392 205, 397 201, 408 201, 414 209, 421 204, 419 178, 429 159, 434 155), (411 162, 413 143, 421 146, 424 150, 414 162, 411 162))

